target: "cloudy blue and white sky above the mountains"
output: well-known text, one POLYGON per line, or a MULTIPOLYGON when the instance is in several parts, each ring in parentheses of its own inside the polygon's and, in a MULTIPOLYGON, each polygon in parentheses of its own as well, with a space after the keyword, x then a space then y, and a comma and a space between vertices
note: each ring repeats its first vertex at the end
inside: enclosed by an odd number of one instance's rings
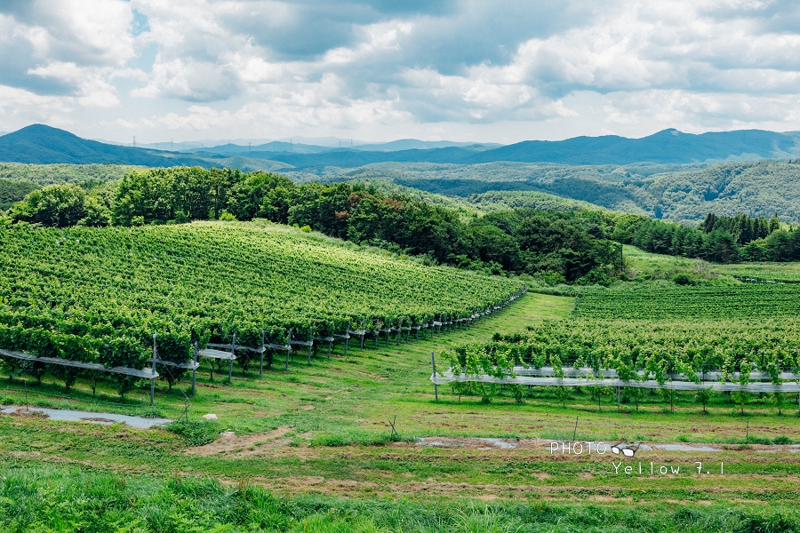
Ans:
POLYGON ((800 130, 796 0, 0 0, 0 131, 511 143, 800 130))

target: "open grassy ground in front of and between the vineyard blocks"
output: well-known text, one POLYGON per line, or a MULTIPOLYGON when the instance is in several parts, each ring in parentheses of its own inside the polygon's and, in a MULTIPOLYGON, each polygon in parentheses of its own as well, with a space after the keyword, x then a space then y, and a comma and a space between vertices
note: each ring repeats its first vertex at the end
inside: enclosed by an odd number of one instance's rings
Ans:
MULTIPOLYGON (((754 286, 732 288, 761 298, 751 292, 754 286)), ((687 294, 707 298, 706 289, 719 288, 690 287, 700 292, 689 293, 658 283, 639 287, 645 296, 664 290, 662 304, 666 298, 686 301, 687 294)), ((634 288, 627 290, 626 298, 636 296, 634 288)), ((613 291, 607 292, 620 290, 613 291)), ((579 313, 610 313, 604 299, 595 308, 586 298, 579 313)), ((623 397, 618 409, 610 395, 598 407, 587 389, 564 398, 532 388, 522 402, 500 391, 485 403, 445 386, 435 401, 431 352, 441 368, 450 348, 486 343, 495 334, 548 324, 570 331, 607 320, 577 319, 574 307, 574 298, 528 293, 465 330, 399 344, 393 337, 377 349, 351 345, 347 355, 336 345, 330 359, 317 350, 311 365, 296 354, 290 371, 268 370, 263 378, 236 368, 230 385, 216 373, 212 378, 204 361, 196 395, 188 398, 194 429, 177 434, 19 411, 2 415, 0 496, 6 499, 0 499, 0 524, 24 531, 35 517, 45 531, 78 530, 68 525, 73 519, 132 531, 223 524, 234 531, 797 527, 800 418, 791 401, 779 415, 769 398, 754 397, 741 415, 739 405, 720 395, 704 414, 691 393, 676 394, 672 406, 659 394, 644 394, 638 408, 623 397), (200 423, 207 413, 219 420, 200 423), (551 442, 573 437, 652 449, 638 451, 625 465, 607 454, 551 453, 551 442), (658 448, 662 443, 668 449, 658 448), (644 473, 638 475, 640 462, 644 473), (648 474, 651 463, 654 473, 648 474)), ((785 308, 778 319, 791 313, 791 306, 785 308)), ((624 333, 614 322, 604 323, 607 335, 624 333)), ((172 390, 158 381, 150 407, 148 387, 133 388, 123 400, 111 381, 99 380, 95 394, 92 385, 78 377, 65 392, 60 378, 49 374, 40 384, 24 375, 3 378, 0 401, 19 407, 27 398, 32 406, 88 410, 98 418, 107 411, 179 418, 188 393, 186 378, 172 390)))

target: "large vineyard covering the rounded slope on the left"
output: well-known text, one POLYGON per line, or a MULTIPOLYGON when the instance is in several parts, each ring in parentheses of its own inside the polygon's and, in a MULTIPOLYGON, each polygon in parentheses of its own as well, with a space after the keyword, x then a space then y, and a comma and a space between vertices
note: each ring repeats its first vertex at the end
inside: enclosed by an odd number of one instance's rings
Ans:
MULTIPOLYGON (((351 327, 399 336, 458 323, 523 289, 356 248, 254 224, 4 230, 0 348, 141 369, 156 333, 159 360, 190 368, 194 342, 236 334, 237 346, 308 345, 351 327)), ((236 355, 246 369, 254 354, 236 355)), ((45 371, 38 362, 4 362, 10 372, 45 371)), ((74 368, 58 371, 74 382, 74 368)), ((135 377, 119 379, 124 392, 135 377)))

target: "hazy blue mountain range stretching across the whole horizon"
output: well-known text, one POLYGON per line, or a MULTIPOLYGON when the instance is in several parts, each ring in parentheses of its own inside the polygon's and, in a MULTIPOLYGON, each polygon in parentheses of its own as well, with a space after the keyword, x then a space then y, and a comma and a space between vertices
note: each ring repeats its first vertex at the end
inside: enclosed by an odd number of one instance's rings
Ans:
MULTIPOLYGON (((295 169, 327 166, 355 168, 372 163, 495 162, 562 164, 713 163, 787 159, 800 156, 800 132, 742 130, 700 135, 659 131, 641 139, 616 135, 560 141, 528 140, 508 146, 401 139, 356 147, 321 147, 272 141, 241 146, 225 144, 171 152, 124 147, 81 139, 68 131, 33 124, 0 137, 0 161, 6 163, 123 163, 148 166, 180 164, 229 166, 230 156, 283 163, 295 169)), ((258 166, 258 165, 257 165, 258 166)))

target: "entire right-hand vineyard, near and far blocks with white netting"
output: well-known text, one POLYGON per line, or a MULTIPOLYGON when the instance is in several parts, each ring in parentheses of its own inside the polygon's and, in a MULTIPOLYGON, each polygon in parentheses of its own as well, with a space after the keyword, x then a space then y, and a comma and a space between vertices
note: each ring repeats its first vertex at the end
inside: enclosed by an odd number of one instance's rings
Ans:
MULTIPOLYGON (((573 319, 495 334, 443 354, 432 376, 461 394, 484 384, 611 386, 720 391, 800 391, 800 287, 739 283, 680 287, 635 284, 586 290, 573 319)), ((517 391, 518 393, 518 391, 517 391)))

